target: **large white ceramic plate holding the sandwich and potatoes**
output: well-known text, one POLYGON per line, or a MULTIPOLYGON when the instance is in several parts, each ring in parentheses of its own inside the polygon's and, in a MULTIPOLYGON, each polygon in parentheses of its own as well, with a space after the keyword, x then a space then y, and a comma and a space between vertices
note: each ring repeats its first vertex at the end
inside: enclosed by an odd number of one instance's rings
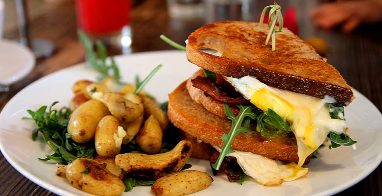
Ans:
MULTIPOLYGON (((163 68, 145 87, 159 101, 167 100, 181 81, 191 76, 198 68, 186 59, 182 51, 159 51, 136 53, 116 57, 124 81, 132 82, 134 76, 141 78, 155 66, 163 68)), ((31 140, 33 123, 22 121, 28 116, 27 109, 36 110, 42 105, 60 101, 57 107, 68 105, 72 97, 72 84, 78 79, 94 80, 96 73, 83 64, 52 73, 27 86, 4 107, 0 114, 0 149, 9 163, 38 185, 58 195, 88 195, 76 190, 61 177, 55 175, 53 163, 42 162, 37 157, 51 154, 49 147, 40 141, 31 140)), ((339 147, 319 149, 320 155, 312 159, 308 177, 285 182, 280 186, 263 187, 247 177, 243 185, 229 183, 223 174, 214 176, 213 184, 194 195, 197 196, 302 196, 333 195, 362 180, 382 160, 382 115, 363 95, 355 91, 356 99, 346 108, 345 117, 349 134, 357 143, 357 149, 339 147)), ((40 137, 41 138, 41 137, 40 137)), ((192 168, 212 175, 207 161, 191 159, 192 168)), ((150 195, 149 187, 136 187, 124 195, 150 195)))

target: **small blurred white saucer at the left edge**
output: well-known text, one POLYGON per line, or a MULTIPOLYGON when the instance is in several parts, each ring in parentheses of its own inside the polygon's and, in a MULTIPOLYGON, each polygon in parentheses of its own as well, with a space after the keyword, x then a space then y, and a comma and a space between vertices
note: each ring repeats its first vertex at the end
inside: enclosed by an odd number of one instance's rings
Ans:
POLYGON ((33 70, 35 58, 30 49, 12 40, 0 40, 0 84, 9 86, 33 70))

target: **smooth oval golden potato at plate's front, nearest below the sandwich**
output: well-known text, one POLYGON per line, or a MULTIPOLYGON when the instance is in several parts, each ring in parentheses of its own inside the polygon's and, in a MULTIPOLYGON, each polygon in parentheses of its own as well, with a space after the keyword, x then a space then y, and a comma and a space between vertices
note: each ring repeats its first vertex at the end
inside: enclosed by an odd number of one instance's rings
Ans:
POLYGON ((151 186, 151 193, 155 196, 184 196, 207 188, 213 181, 206 172, 175 172, 157 179, 151 186))

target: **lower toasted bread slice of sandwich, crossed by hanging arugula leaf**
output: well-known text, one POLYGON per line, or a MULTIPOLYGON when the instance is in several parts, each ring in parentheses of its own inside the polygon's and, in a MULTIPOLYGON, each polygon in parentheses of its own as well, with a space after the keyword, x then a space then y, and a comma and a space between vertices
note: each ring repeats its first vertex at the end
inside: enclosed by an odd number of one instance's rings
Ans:
MULTIPOLYGON (((180 84, 170 95, 168 101, 168 118, 178 128, 197 139, 222 148, 221 136, 228 133, 231 121, 217 116, 202 105, 192 101, 186 81, 180 84)), ((234 150, 252 152, 262 156, 286 162, 298 162, 297 143, 293 137, 264 138, 257 131, 239 133, 231 146, 234 150)), ((309 163, 310 157, 305 163, 309 163)))

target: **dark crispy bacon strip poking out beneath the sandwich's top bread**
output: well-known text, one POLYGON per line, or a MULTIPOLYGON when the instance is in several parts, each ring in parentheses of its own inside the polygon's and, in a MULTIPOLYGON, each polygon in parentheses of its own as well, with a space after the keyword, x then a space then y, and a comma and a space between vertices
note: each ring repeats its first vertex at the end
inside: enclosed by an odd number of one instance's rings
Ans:
POLYGON ((233 104, 247 104, 249 101, 243 98, 239 93, 232 93, 228 96, 227 92, 223 91, 223 88, 216 84, 214 79, 196 76, 191 79, 192 86, 198 88, 204 92, 206 96, 211 96, 219 101, 233 104))

